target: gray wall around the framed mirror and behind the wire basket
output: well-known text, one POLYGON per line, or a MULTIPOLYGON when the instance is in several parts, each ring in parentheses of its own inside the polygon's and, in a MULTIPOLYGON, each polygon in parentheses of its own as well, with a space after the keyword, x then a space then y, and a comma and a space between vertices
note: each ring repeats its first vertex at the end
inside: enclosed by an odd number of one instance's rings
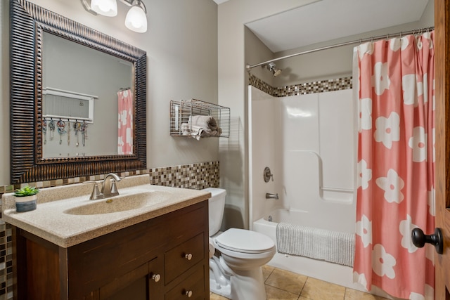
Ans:
MULTIPOLYGON (((91 15, 80 1, 32 0, 147 52, 147 167, 218 160, 218 138, 196 141, 169 136, 169 101, 196 98, 217 103, 217 4, 212 0, 144 0, 148 31, 124 26, 128 6, 118 15, 91 15)), ((9 178, 9 1, 1 0, 0 185, 9 178)))

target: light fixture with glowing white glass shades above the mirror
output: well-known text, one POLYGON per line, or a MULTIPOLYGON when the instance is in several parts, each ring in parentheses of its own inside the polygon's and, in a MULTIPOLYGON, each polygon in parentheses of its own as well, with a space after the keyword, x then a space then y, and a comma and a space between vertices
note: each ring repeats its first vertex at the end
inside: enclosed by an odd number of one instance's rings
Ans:
MULTIPOLYGON (((80 0, 86 11, 93 15, 117 15, 116 0, 80 0)), ((147 8, 141 0, 120 0, 123 4, 131 6, 125 18, 125 26, 134 32, 147 31, 147 8)))

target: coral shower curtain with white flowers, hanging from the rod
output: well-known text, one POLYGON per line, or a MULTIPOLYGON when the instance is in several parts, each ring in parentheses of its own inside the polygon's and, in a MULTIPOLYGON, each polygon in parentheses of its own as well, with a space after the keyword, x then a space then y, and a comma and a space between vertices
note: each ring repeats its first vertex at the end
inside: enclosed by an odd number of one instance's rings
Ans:
MULTIPOLYGON (((404 299, 434 299, 434 32, 357 48, 359 186, 354 280, 404 299)), ((356 78, 355 78, 356 80, 356 78)))

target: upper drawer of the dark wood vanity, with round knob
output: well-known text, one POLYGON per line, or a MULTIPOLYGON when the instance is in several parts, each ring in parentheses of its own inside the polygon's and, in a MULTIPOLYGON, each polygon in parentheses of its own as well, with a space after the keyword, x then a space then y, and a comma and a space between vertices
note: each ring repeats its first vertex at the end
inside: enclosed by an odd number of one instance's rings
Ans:
POLYGON ((204 233, 179 244, 165 253, 166 285, 205 257, 204 233))

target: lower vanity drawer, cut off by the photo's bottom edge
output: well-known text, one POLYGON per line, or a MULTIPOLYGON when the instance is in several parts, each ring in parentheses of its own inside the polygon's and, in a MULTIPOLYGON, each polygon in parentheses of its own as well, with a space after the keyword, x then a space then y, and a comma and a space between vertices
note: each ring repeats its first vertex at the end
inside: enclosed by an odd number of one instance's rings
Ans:
MULTIPOLYGON (((203 263, 188 270, 184 280, 165 295, 165 300, 206 299, 205 297, 205 268, 203 263)), ((207 279, 206 279, 207 280, 207 279)), ((209 294, 210 291, 207 291, 209 294)))

